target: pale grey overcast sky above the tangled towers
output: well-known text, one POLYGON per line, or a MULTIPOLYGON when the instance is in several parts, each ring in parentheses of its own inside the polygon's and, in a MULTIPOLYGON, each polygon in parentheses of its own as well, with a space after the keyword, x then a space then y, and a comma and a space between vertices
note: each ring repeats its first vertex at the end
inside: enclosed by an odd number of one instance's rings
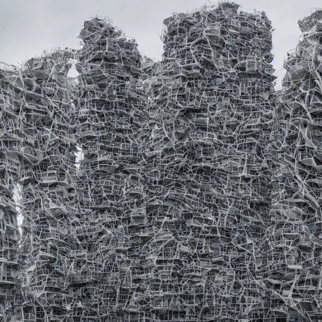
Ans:
MULTIPOLYGON (((272 20, 276 75, 296 47, 297 22, 321 0, 239 0, 244 9, 264 10, 272 20)), ((85 18, 108 16, 128 36, 135 37, 142 55, 160 58, 163 20, 173 12, 193 10, 204 0, 0 0, 0 61, 16 64, 52 47, 76 47, 85 18)), ((250 11, 248 10, 248 11, 250 11)), ((279 71, 281 70, 281 71, 279 71)))

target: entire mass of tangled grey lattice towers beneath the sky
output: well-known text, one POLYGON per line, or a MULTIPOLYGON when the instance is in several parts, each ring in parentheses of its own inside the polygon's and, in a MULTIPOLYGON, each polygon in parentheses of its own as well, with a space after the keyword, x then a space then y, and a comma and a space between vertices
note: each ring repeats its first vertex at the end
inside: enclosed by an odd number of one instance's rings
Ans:
POLYGON ((1 62, 0 321, 318 322, 321 21, 280 91, 227 0, 166 18, 160 61, 96 16, 1 62))

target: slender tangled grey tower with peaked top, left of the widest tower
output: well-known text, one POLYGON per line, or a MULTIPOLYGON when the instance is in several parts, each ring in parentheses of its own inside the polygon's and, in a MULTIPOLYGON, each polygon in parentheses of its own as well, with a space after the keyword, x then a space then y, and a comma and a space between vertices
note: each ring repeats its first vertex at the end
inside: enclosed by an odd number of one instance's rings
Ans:
POLYGON ((81 321, 139 322, 146 304, 148 238, 141 55, 135 39, 108 18, 86 20, 80 39, 76 101, 83 156, 76 236, 81 249, 71 269, 83 286, 81 321))

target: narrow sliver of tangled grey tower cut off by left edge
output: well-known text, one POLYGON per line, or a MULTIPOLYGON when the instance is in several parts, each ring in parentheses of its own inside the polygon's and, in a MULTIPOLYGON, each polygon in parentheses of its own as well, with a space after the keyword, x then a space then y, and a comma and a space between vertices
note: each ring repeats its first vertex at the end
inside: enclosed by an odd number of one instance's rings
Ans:
POLYGON ((21 284, 15 179, 20 172, 19 96, 23 88, 17 67, 0 62, 0 321, 4 322, 12 318, 21 284))

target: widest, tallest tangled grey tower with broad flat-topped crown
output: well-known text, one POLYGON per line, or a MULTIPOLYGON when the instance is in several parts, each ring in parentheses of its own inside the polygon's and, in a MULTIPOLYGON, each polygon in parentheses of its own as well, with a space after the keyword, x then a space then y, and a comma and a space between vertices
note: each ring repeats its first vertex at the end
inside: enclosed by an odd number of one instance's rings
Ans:
POLYGON ((154 264, 147 308, 160 321, 260 321, 271 22, 225 2, 164 25, 149 108, 147 218, 156 233, 145 245, 154 264))

